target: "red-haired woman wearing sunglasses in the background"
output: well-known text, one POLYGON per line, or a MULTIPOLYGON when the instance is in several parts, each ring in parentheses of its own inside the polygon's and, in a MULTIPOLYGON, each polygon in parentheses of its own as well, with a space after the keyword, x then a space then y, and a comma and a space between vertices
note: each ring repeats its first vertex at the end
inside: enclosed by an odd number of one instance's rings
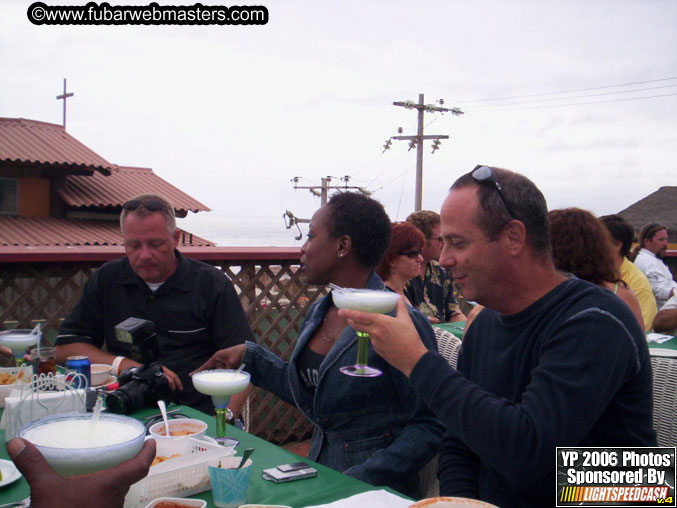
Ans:
MULTIPOLYGON (((421 249, 424 245, 425 237, 415 226, 408 222, 393 223, 390 244, 376 267, 376 274, 386 288, 405 296, 404 286, 421 273, 421 249)), ((411 305, 408 299, 407 303, 411 305)))

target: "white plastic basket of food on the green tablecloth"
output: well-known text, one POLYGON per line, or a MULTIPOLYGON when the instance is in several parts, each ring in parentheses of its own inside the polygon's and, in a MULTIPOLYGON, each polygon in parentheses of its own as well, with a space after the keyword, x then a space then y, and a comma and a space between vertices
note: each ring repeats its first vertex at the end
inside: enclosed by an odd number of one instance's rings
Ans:
MULTIPOLYGON (((158 497, 188 497, 205 492, 211 488, 207 463, 235 455, 234 448, 223 447, 213 440, 184 438, 170 441, 169 446, 175 446, 182 456, 151 467, 148 476, 129 489, 124 508, 143 508, 158 497), (185 453, 186 450, 189 452, 185 453)), ((168 443, 162 443, 162 453, 171 455, 167 446, 168 443)))

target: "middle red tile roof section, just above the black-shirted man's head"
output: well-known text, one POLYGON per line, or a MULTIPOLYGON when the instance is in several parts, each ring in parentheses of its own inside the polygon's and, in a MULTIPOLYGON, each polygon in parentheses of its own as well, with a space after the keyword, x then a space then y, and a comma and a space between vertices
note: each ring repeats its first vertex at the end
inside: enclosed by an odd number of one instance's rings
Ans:
POLYGON ((68 207, 74 208, 115 208, 138 195, 153 192, 168 199, 177 215, 184 217, 192 212, 210 209, 157 176, 150 168, 118 166, 109 176, 94 173, 68 175, 66 185, 58 191, 59 197, 68 207))

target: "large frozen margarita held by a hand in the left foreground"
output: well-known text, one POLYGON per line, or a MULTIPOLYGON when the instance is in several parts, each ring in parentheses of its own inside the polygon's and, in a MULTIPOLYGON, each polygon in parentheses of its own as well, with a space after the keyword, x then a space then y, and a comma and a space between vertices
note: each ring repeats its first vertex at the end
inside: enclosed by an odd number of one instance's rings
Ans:
POLYGON ((57 473, 64 476, 93 473, 116 466, 120 462, 131 459, 141 450, 146 428, 140 421, 128 416, 107 413, 101 414, 99 418, 101 424, 99 429, 102 429, 101 434, 105 434, 103 437, 109 444, 97 444, 96 438, 98 436, 96 432, 93 432, 94 439, 92 442, 94 444, 85 448, 51 445, 54 440, 49 436, 59 432, 57 430, 59 428, 72 429, 73 435, 77 436, 80 442, 88 439, 89 425, 91 425, 92 420, 91 413, 65 413, 47 416, 21 427, 18 436, 31 441, 45 457, 47 463, 57 473), (83 420, 86 423, 79 422, 83 420), (77 423, 75 423, 76 421, 77 423), (82 426, 82 428, 78 430, 77 426, 82 426), (36 429, 39 429, 37 432, 47 434, 47 437, 39 440, 35 435, 36 429), (111 429, 114 431, 111 432, 111 429), (116 442, 117 433, 115 431, 118 429, 125 429, 126 437, 121 437, 121 440, 116 442), (31 438, 32 434, 33 437, 31 438))

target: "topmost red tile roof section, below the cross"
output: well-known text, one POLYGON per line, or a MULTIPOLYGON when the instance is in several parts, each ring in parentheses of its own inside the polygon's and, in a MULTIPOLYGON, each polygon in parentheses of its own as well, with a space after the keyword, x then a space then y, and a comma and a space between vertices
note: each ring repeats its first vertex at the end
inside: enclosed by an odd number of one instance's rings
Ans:
POLYGON ((68 134, 61 125, 24 118, 0 118, 0 162, 103 174, 109 174, 116 167, 68 134))

